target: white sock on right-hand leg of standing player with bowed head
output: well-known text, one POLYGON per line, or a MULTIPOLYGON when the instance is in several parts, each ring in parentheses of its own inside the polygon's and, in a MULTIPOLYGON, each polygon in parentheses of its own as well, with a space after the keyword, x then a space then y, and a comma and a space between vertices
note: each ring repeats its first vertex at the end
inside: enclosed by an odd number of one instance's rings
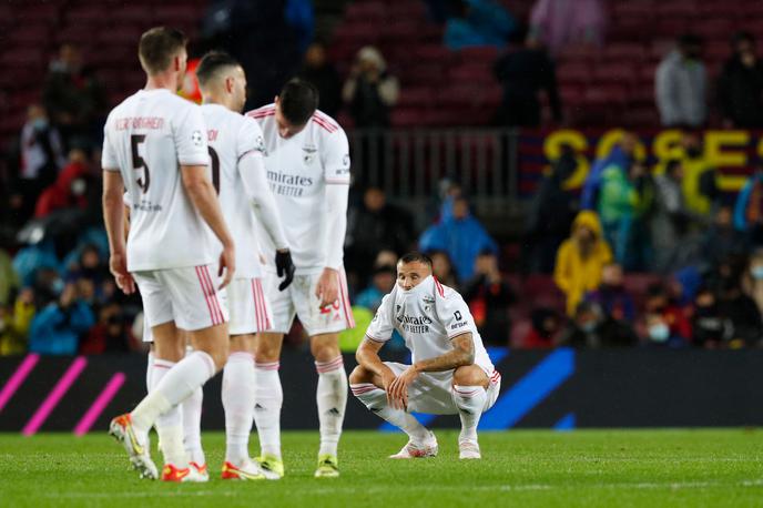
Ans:
POLYGON ((342 356, 330 362, 316 362, 318 387, 315 399, 318 403, 318 421, 321 423, 319 455, 337 455, 342 424, 347 408, 347 374, 342 356))

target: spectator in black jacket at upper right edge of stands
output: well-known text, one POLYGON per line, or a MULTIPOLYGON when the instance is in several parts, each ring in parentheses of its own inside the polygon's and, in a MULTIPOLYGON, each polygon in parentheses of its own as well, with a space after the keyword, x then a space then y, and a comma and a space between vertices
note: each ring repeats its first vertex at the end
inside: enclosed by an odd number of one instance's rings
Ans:
POLYGON ((755 54, 755 39, 736 32, 733 55, 718 80, 718 98, 724 124, 736 129, 763 128, 763 62, 755 54))

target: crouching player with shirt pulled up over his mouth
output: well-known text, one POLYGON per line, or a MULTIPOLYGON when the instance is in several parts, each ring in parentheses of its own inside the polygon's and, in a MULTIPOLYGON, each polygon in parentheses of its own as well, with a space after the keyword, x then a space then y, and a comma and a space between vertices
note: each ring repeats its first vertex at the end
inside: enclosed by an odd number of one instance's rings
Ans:
POLYGON ((459 457, 480 458, 477 424, 500 392, 500 374, 488 357, 469 307, 431 274, 431 260, 410 253, 397 264, 397 284, 384 297, 349 375, 353 394, 409 437, 390 458, 434 457, 437 439, 410 412, 458 414, 459 457), (411 365, 382 362, 393 329, 405 338, 411 365))

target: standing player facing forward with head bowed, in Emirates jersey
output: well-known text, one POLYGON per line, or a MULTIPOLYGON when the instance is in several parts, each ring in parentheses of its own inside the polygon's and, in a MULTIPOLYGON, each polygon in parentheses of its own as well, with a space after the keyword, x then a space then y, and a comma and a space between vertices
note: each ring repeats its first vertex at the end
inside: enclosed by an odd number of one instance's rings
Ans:
MULTIPOLYGON (((343 267, 349 189, 347 135, 334 120, 316 111, 317 106, 316 89, 295 79, 284 85, 275 103, 247 115, 260 123, 265 136, 267 180, 296 266, 294 284, 286 291, 278 291, 274 267, 265 267, 265 294, 274 318, 271 331, 257 338, 255 352, 260 464, 283 476, 278 358, 296 313, 311 337, 318 372, 321 449, 315 476, 321 478, 339 475, 337 446, 347 405, 347 375, 338 333, 355 323, 343 267)), ((272 260, 274 245, 266 241, 263 245, 272 260)))

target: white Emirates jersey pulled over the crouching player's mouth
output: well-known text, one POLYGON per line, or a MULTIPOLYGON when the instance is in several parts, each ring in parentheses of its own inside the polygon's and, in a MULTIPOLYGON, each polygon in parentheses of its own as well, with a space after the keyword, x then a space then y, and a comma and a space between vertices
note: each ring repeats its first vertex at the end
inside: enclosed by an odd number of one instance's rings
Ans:
POLYGON ((494 370, 469 306, 457 291, 444 286, 431 275, 410 291, 395 284, 382 299, 366 335, 384 343, 389 341, 393 329, 405 338, 414 363, 451 352, 452 338, 471 333, 475 364, 488 375, 494 370))

